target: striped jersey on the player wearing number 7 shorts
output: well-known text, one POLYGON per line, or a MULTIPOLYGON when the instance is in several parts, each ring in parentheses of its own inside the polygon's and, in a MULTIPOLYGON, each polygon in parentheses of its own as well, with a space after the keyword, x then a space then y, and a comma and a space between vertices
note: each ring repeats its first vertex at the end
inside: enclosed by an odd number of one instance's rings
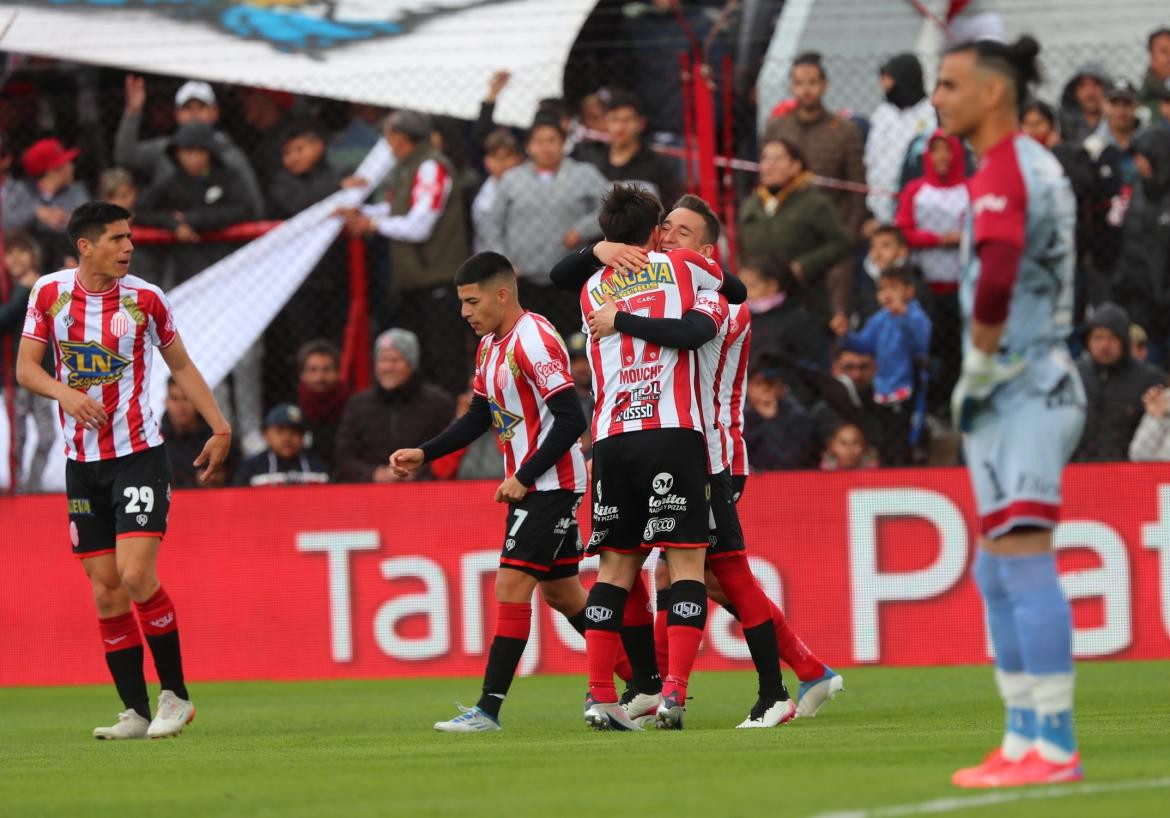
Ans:
MULTIPOLYGON (((545 400, 573 389, 569 350, 544 316, 524 312, 502 338, 487 335, 475 356, 473 390, 487 399, 491 426, 510 477, 549 437, 552 412, 545 400)), ((557 465, 536 479, 535 492, 585 492, 585 456, 574 441, 557 465)))

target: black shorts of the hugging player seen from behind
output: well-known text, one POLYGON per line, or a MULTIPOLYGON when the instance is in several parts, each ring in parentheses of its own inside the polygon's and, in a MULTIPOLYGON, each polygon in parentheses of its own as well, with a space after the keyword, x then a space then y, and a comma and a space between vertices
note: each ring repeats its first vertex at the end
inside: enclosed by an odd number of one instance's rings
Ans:
POLYGON ((709 492, 702 433, 665 428, 606 438, 593 446, 586 551, 706 548, 709 492))

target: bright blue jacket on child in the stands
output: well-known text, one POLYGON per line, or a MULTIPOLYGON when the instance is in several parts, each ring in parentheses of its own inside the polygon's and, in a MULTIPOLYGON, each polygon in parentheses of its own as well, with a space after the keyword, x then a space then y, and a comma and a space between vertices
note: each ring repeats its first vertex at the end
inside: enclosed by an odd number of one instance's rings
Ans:
POLYGON ((930 350, 930 318, 917 300, 907 305, 906 315, 882 309, 869 317, 860 332, 846 335, 844 344, 876 359, 876 403, 908 400, 915 386, 915 359, 925 358, 930 350))

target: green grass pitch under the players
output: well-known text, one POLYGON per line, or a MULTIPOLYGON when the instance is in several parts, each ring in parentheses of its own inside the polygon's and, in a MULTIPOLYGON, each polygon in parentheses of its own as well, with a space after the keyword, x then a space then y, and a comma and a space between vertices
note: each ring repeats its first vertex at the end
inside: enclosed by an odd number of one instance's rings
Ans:
MULTIPOLYGON (((815 720, 729 729, 755 694, 744 673, 694 679, 682 733, 593 734, 579 676, 518 680, 504 730, 440 735, 477 683, 408 680, 193 686, 183 736, 97 742, 108 687, 0 689, 0 814, 777 816, 966 798, 951 771, 998 741, 984 667, 862 668, 815 720)), ((1170 776, 1170 662, 1081 664, 1087 781, 1170 776)), ((879 813, 880 814, 880 813, 879 813)), ((1168 816, 1170 789, 1083 793, 947 814, 1168 816)))

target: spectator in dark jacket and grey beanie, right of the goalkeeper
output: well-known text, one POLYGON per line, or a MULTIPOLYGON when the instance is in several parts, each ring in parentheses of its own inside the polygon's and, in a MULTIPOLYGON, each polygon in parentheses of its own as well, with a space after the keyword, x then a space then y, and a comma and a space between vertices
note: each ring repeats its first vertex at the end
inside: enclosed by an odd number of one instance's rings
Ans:
POLYGON ((1086 328, 1086 351, 1076 364, 1088 411, 1079 462, 1126 460, 1142 415, 1142 396, 1164 384, 1165 373, 1129 355, 1129 316, 1116 304, 1096 308, 1086 328))

